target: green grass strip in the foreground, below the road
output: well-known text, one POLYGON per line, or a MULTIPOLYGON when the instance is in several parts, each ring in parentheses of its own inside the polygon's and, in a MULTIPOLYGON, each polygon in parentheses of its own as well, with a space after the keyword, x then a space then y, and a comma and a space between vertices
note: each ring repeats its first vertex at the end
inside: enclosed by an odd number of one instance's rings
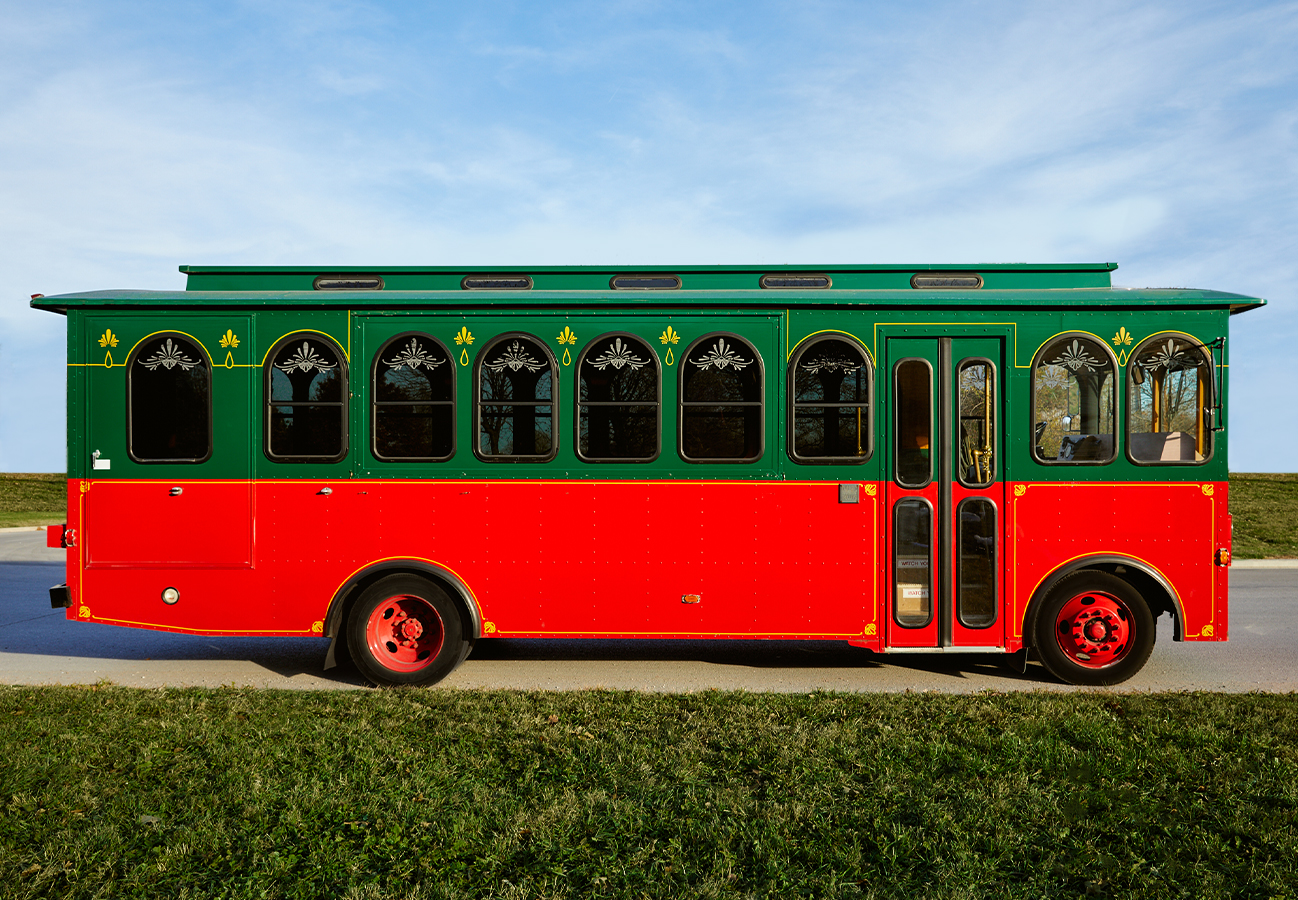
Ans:
POLYGON ((1298 697, 0 688, 8 897, 1280 897, 1298 697))

